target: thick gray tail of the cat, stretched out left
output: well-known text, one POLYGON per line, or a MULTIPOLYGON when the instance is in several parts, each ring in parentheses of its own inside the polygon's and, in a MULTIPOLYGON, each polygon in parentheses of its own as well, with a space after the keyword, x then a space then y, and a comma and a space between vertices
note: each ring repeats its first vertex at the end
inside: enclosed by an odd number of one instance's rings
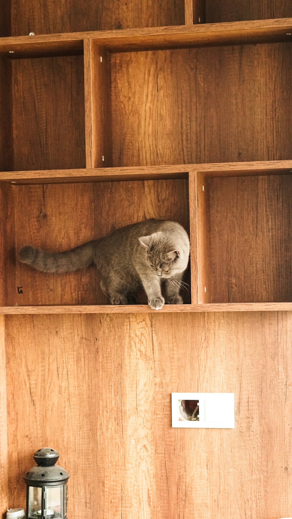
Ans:
POLYGON ((46 252, 31 245, 20 249, 18 259, 21 263, 31 265, 41 272, 74 272, 79 268, 89 267, 96 254, 100 240, 93 240, 75 249, 65 252, 46 252))

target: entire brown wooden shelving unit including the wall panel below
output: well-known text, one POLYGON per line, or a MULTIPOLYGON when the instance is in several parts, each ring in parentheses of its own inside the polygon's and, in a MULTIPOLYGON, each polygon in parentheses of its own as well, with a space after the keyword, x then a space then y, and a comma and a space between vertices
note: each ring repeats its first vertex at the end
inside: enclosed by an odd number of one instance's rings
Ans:
POLYGON ((71 519, 289 516, 291 1, 90 6, 0 17, 1 513, 51 445, 71 519), (16 261, 153 216, 190 233, 184 305, 16 261), (171 429, 179 390, 234 392, 235 429, 171 429))

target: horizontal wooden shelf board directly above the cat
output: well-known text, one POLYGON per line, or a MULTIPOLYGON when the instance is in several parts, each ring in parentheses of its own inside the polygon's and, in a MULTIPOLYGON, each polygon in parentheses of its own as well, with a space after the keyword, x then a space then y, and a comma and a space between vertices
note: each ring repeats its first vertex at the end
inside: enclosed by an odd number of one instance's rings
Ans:
MULTIPOLYGON (((37 171, 2 171, 0 182, 31 183, 41 182, 80 182, 90 180, 127 180, 148 175, 149 179, 157 178, 187 178, 189 171, 200 171, 210 176, 227 176, 238 171, 239 174, 266 174, 279 170, 292 172, 292 160, 270 160, 253 162, 217 162, 204 164, 174 164, 170 166, 129 166, 115 168, 87 168, 64 170, 37 170, 37 171)), ((281 171, 281 172, 282 172, 281 171)))

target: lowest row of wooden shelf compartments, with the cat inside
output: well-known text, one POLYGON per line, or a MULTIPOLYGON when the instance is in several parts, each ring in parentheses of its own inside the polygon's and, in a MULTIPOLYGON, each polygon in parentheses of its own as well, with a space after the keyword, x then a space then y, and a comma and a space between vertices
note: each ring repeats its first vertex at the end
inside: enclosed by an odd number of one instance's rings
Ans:
POLYGON ((291 172, 292 161, 3 172, 0 309, 148 311, 145 294, 145 306, 109 306, 94 267, 50 276, 16 252, 66 250, 149 217, 190 233, 186 304, 163 311, 292 309, 291 172))

